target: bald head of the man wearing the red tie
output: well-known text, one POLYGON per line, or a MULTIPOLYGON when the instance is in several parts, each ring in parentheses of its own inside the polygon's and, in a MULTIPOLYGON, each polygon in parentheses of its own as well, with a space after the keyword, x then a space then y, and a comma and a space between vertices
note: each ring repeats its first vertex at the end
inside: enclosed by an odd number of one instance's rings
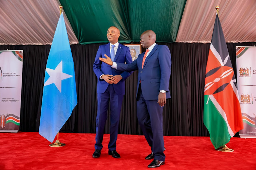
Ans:
POLYGON ((142 48, 149 48, 156 43, 156 33, 152 30, 147 30, 141 34, 140 39, 142 48))

